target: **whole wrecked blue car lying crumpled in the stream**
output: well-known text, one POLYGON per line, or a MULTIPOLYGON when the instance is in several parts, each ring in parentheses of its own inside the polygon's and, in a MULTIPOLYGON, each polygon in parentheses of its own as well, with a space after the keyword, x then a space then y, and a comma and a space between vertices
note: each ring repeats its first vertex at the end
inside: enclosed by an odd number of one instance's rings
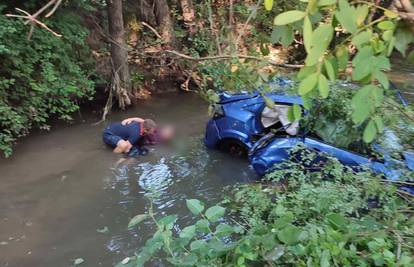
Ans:
MULTIPOLYGON (((284 79, 274 82, 282 87, 290 83, 284 79)), ((251 166, 261 176, 288 160, 299 144, 321 157, 324 154, 335 157, 347 166, 366 166, 393 181, 407 180, 405 169, 414 171, 414 153, 403 152, 402 160, 395 160, 377 145, 374 148, 383 159, 375 160, 325 143, 315 135, 303 132, 298 122, 289 122, 289 106, 302 105, 299 96, 283 93, 266 96, 274 101, 274 107, 269 108, 259 92, 219 94, 220 101, 214 106, 213 118, 207 123, 205 145, 233 155, 248 155, 251 166)), ((414 187, 403 189, 414 194, 414 187)))

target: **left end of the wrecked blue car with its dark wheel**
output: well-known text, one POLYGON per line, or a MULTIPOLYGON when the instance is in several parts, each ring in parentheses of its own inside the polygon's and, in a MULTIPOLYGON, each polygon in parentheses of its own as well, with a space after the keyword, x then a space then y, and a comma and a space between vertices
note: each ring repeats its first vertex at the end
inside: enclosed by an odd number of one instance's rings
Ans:
MULTIPOLYGON (((273 81, 273 84, 280 87, 289 86, 290 83, 285 79, 273 81)), ((266 96, 281 106, 302 104, 302 99, 298 96, 286 96, 282 93, 270 93, 266 96)), ((213 106, 213 118, 207 123, 204 143, 209 148, 220 149, 232 155, 247 156, 257 140, 272 129, 283 126, 263 123, 262 114, 268 108, 259 92, 223 92, 219 97, 220 101, 213 106)))

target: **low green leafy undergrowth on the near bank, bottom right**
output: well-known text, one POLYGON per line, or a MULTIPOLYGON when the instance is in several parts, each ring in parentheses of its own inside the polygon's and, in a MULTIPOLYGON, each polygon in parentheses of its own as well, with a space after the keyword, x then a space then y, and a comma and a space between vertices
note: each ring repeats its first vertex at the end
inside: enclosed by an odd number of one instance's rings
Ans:
POLYGON ((178 233, 175 216, 155 219, 150 210, 157 230, 133 264, 161 257, 172 266, 412 266, 412 203, 369 171, 316 159, 298 147, 266 183, 234 186, 227 208, 204 212, 201 201, 187 200, 198 220, 178 233))

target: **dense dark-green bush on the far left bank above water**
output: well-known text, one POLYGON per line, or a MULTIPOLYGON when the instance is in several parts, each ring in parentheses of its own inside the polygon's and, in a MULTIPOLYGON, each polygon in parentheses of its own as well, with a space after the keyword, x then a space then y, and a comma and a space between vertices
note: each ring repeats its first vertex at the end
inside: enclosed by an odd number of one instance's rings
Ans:
MULTIPOLYGON (((0 8, 0 11, 2 9, 0 8)), ((12 145, 32 128, 48 129, 48 120, 71 120, 78 100, 93 95, 88 79, 93 69, 79 17, 60 12, 47 24, 61 33, 57 38, 0 15, 0 150, 6 156, 12 145)))

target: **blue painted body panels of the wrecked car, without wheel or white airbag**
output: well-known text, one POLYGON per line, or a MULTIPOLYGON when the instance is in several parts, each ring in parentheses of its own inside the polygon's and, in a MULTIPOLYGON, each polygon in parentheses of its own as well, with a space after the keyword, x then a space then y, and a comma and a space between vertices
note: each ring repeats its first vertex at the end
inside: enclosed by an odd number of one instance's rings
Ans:
MULTIPOLYGON (((291 84, 291 81, 280 78, 273 82, 281 87, 291 84)), ((275 103, 303 104, 299 96, 288 96, 281 93, 268 93, 266 96, 275 103)), ((286 161, 289 158, 289 151, 299 143, 303 143, 315 151, 333 156, 344 165, 366 166, 376 173, 384 174, 387 179, 393 181, 404 178, 402 177, 403 168, 414 170, 414 153, 412 152, 403 152, 405 162, 401 162, 392 159, 385 151, 377 147, 376 150, 383 154, 385 159, 384 163, 380 163, 306 136, 275 137, 258 149, 261 140, 255 142, 253 136, 259 135, 265 130, 260 121, 260 115, 265 107, 263 97, 257 91, 235 95, 223 92, 219 94, 219 97, 218 105, 221 106, 224 116, 213 118, 207 123, 205 145, 209 148, 217 148, 222 140, 228 138, 239 140, 249 149, 250 163, 261 176, 270 172, 276 164, 286 161)), ((405 99, 404 101, 403 104, 406 103, 405 99)), ((267 137, 262 139, 264 138, 267 137)), ((414 195, 413 187, 404 187, 403 189, 414 195)))

